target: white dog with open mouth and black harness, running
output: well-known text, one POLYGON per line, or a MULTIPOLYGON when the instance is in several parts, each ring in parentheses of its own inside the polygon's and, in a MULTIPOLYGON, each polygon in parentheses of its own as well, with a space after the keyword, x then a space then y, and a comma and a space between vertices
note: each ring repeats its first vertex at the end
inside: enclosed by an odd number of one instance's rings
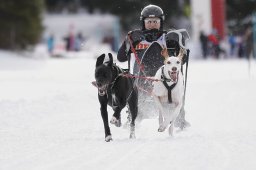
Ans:
POLYGON ((185 49, 181 49, 177 57, 169 57, 164 48, 162 56, 165 57, 164 65, 156 72, 153 82, 154 101, 159 109, 159 132, 163 132, 168 125, 169 134, 173 136, 174 122, 180 113, 184 96, 183 75, 181 72, 182 57, 185 49))

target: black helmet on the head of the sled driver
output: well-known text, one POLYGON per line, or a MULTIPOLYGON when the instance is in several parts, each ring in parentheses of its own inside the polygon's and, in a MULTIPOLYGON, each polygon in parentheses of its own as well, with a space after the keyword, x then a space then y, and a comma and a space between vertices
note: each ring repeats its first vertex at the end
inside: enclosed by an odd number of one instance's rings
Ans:
POLYGON ((150 17, 160 18, 161 20, 160 30, 163 30, 164 12, 159 6, 156 6, 156 5, 148 5, 142 9, 140 14, 142 30, 145 30, 144 19, 150 18, 150 17))

